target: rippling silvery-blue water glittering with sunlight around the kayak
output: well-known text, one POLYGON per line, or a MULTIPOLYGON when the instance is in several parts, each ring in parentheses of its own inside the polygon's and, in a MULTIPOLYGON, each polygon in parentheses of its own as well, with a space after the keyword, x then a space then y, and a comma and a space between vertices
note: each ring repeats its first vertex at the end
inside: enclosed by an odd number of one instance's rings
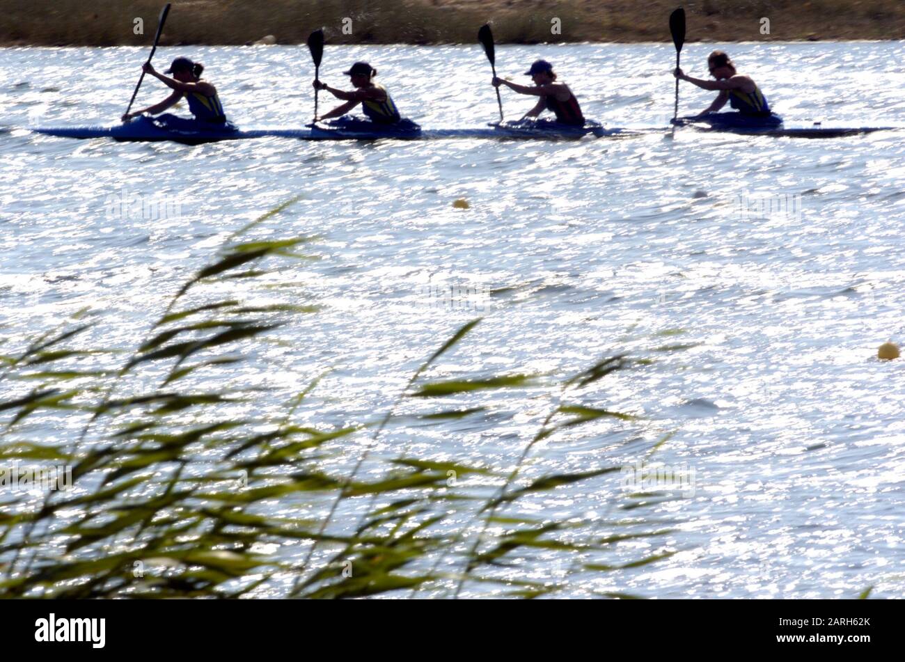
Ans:
MULTIPOLYGON (((686 46, 686 71, 702 75, 710 50, 686 46)), ((176 52, 205 62, 238 125, 309 121, 304 47, 167 48, 157 60, 176 52)), ((729 53, 787 122, 905 122, 905 43, 729 53)), ((2 50, 2 123, 114 123, 143 57, 2 50)), ((586 116, 609 126, 663 126, 672 115, 672 46, 504 46, 497 57, 500 75, 553 61, 586 116)), ((478 46, 328 46, 322 78, 344 82, 339 72, 359 59, 424 127, 496 118, 478 46)), ((166 93, 146 80, 137 103, 166 93)), ((711 96, 683 85, 681 108, 711 96)), ((531 105, 506 92, 503 102, 510 117, 531 105)), ((875 358, 885 340, 905 340, 900 133, 184 147, 14 130, 0 134, 0 154, 0 327, 13 342, 86 306, 105 317, 101 340, 145 333, 230 232, 300 195, 272 232, 319 236, 309 250, 319 260, 281 279, 323 310, 272 335, 281 344, 262 357, 266 373, 236 379, 285 394, 331 369, 300 416, 360 420, 480 315, 435 376, 567 374, 617 352, 648 356, 655 363, 602 382, 588 401, 642 423, 551 441, 531 459, 563 471, 632 464, 643 457, 634 440, 646 449, 673 432, 657 458, 694 470, 693 496, 649 511, 675 529, 679 553, 595 589, 826 598, 905 587, 905 381, 900 361, 875 358), (453 208, 459 198, 471 208, 453 208), (131 199, 146 212, 124 210, 131 199), (682 348, 658 351, 671 345, 682 348)), ((487 399, 510 415, 416 438, 396 430, 382 449, 405 442, 413 454, 508 468, 548 397, 487 399)), ((564 489, 538 499, 535 515, 605 512, 612 486, 564 489)))

